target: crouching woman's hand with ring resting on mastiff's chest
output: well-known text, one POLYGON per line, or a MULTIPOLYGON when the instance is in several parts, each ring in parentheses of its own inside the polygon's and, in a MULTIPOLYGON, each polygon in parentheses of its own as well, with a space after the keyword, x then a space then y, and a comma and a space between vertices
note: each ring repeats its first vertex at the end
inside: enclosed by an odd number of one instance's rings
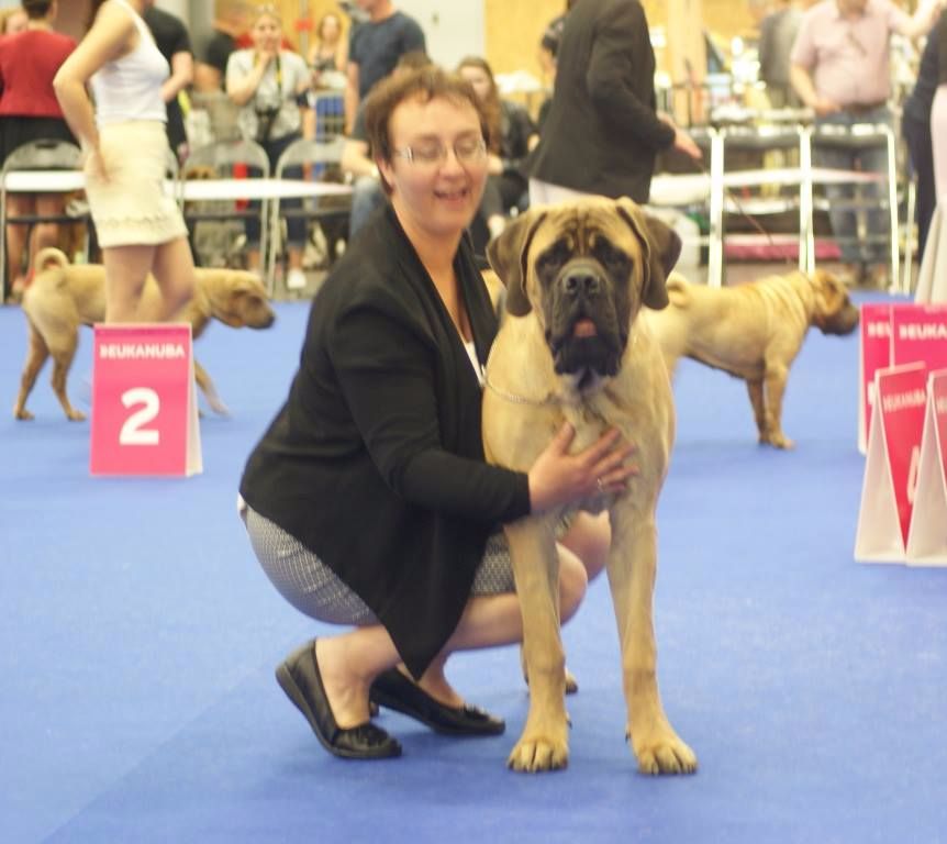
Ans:
POLYGON ((628 478, 638 474, 638 467, 628 463, 635 446, 620 441, 617 429, 609 429, 588 448, 569 454, 575 436, 576 430, 564 424, 530 469, 531 512, 624 492, 628 478))

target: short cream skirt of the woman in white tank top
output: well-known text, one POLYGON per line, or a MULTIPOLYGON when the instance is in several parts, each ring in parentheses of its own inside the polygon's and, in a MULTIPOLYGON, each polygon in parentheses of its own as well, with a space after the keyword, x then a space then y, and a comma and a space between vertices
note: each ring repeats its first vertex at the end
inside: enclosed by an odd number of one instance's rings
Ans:
POLYGON ((99 245, 168 243, 188 234, 181 211, 165 191, 168 137, 158 121, 112 123, 99 130, 107 178, 89 173, 86 197, 99 245))

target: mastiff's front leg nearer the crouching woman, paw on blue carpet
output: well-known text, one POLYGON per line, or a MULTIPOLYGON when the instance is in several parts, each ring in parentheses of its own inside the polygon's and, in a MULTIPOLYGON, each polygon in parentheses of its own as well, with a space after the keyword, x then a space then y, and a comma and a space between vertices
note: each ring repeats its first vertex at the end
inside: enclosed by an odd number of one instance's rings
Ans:
POLYGON ((523 613, 530 714, 506 765, 514 770, 565 768, 569 762, 566 655, 559 635, 559 564, 554 525, 525 519, 504 528, 523 613))

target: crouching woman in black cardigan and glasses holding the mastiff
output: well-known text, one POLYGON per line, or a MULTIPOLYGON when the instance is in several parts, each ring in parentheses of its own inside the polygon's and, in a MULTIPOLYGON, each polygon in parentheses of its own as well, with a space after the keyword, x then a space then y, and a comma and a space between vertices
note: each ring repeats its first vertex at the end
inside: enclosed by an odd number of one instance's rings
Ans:
MULTIPOLYGON (((528 475, 484 463, 478 376, 497 322, 464 236, 487 176, 483 114, 467 82, 434 67, 386 80, 366 108, 391 202, 320 291, 289 398, 241 482, 274 585, 308 615, 355 625, 277 668, 323 746, 347 758, 401 753, 370 701, 442 733, 502 732, 444 675, 453 652, 522 635, 500 525, 634 474, 614 432, 569 455, 568 426, 528 475)), ((564 537, 564 619, 587 582, 569 547, 599 568, 608 542, 606 523, 583 515, 564 537)))

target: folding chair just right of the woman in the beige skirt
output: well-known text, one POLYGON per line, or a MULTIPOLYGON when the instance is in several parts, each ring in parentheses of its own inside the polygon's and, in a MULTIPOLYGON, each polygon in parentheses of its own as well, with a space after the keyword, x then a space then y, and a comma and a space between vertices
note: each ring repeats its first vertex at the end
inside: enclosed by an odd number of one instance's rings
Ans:
MULTIPOLYGON (((212 176, 214 179, 231 180, 237 178, 269 178, 270 166, 266 151, 254 141, 214 141, 213 143, 191 151, 180 167, 180 193, 183 200, 183 181, 194 176, 212 176), (200 173, 203 170, 204 173, 200 173)), ((214 199, 202 202, 189 202, 183 207, 185 220, 191 227, 191 245, 197 252, 197 227, 201 223, 216 222, 224 229, 224 235, 237 236, 232 231, 235 220, 245 223, 249 218, 259 220, 260 266, 267 265, 269 248, 269 201, 259 200, 247 203, 245 200, 214 199)), ((243 234, 241 229, 239 234, 243 234)), ((210 238, 214 240, 214 238, 210 238)), ((201 257, 201 256, 199 256, 201 257)))

